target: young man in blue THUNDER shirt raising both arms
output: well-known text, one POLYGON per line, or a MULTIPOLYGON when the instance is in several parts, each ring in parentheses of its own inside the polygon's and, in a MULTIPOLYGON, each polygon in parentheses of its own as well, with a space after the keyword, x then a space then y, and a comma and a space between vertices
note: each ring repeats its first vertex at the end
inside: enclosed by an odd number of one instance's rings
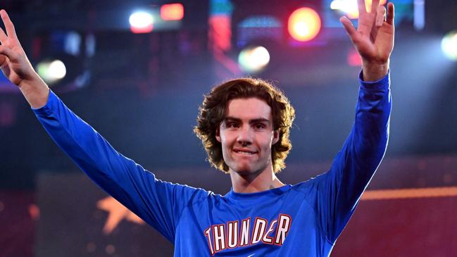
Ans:
POLYGON ((332 168, 296 185, 275 176, 289 152, 294 109, 263 80, 225 82, 201 106, 196 134, 230 174, 225 196, 157 180, 71 112, 33 70, 5 11, 0 66, 56 144, 108 194, 175 244, 175 256, 328 256, 387 146, 394 6, 359 4, 358 30, 341 21, 363 59, 356 121, 332 168))

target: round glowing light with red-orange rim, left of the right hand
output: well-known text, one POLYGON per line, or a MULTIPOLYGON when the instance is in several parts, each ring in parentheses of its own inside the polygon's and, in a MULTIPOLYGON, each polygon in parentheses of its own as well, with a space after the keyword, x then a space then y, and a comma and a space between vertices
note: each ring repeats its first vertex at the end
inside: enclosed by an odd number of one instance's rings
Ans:
POLYGON ((310 41, 320 31, 320 17, 311 8, 299 8, 289 16, 287 28, 294 39, 301 42, 310 41))

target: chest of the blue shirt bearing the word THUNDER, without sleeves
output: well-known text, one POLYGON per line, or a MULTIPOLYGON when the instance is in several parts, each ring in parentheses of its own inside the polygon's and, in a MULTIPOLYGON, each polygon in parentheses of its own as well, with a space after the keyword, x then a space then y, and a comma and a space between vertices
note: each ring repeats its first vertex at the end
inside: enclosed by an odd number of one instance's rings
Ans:
POLYGON ((291 235, 315 234, 315 212, 302 200, 197 204, 182 213, 177 240, 192 239, 192 244, 201 244, 211 256, 253 248, 276 251, 291 235))

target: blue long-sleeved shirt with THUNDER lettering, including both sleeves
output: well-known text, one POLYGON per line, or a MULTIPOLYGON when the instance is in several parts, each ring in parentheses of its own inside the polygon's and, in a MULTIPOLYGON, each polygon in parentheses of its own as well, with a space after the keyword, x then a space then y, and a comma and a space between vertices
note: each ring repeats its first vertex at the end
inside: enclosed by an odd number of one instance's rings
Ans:
POLYGON ((96 184, 175 246, 174 256, 329 256, 384 156, 389 74, 363 82, 356 119, 327 173, 299 184, 225 196, 158 180, 70 111, 53 92, 32 110, 96 184))

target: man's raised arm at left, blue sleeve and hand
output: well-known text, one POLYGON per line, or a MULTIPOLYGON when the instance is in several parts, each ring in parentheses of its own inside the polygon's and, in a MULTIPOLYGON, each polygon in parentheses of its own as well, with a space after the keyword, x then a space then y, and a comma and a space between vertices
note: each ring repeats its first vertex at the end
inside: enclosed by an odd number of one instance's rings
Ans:
POLYGON ((96 184, 174 242, 182 209, 207 192, 157 180, 115 151, 49 90, 30 65, 4 10, 1 18, 6 26, 6 34, 0 29, 1 70, 23 92, 46 132, 96 184))

